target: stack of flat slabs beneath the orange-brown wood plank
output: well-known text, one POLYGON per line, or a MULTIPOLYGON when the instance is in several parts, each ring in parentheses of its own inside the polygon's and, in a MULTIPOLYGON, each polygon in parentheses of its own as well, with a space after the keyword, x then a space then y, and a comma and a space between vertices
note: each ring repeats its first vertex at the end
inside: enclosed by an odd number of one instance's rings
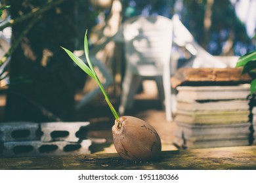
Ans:
POLYGON ((177 87, 175 140, 183 148, 249 144, 249 84, 177 87))

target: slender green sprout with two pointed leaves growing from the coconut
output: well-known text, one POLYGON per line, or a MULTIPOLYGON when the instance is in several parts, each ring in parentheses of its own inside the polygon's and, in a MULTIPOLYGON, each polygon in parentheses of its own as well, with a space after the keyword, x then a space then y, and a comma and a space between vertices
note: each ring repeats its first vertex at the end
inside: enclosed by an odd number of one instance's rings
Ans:
POLYGON ((61 48, 63 50, 65 50, 65 52, 68 54, 68 56, 70 56, 70 58, 85 72, 87 73, 87 75, 91 76, 98 84, 98 86, 100 87, 100 90, 102 91, 105 99, 106 99, 106 103, 108 103, 108 107, 110 107, 110 110, 112 111, 114 117, 116 118, 116 120, 119 119, 119 116, 115 110, 115 108, 113 107, 112 103, 110 102, 110 99, 106 93, 106 90, 104 89, 104 87, 102 86, 100 80, 98 79, 98 76, 96 75, 95 69, 93 68, 93 64, 91 63, 91 60, 89 58, 89 48, 88 48, 88 41, 87 41, 87 31, 85 32, 85 41, 84 41, 84 48, 85 48, 85 57, 87 59, 88 65, 89 67, 83 62, 83 60, 81 60, 80 58, 78 58, 77 56, 75 56, 75 54, 73 52, 70 52, 70 50, 63 48, 61 46, 61 48))

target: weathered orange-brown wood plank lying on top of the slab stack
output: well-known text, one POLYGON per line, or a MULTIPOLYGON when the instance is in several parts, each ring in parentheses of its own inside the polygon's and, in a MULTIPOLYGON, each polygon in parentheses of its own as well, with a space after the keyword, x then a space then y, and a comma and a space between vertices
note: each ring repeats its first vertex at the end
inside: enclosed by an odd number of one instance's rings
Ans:
POLYGON ((171 86, 200 82, 248 83, 249 75, 242 75, 242 68, 181 68, 171 77, 171 86))

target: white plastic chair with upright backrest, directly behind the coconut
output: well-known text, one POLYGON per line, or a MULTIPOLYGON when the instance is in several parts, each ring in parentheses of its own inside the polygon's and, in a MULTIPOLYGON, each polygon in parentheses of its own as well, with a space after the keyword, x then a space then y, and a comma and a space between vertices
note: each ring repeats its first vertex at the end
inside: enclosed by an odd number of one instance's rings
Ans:
POLYGON ((133 96, 144 78, 154 79, 164 100, 166 119, 171 121, 170 58, 172 21, 163 16, 137 16, 124 22, 126 71, 119 114, 133 107, 133 96))

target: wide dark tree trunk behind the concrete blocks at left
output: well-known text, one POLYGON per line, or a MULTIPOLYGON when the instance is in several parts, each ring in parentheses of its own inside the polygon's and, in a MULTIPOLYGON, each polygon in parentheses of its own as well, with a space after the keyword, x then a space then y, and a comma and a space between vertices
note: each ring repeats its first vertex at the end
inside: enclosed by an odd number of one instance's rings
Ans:
MULTIPOLYGON (((45 5, 47 1, 10 0, 12 19, 45 5)), ((74 117, 74 67, 60 46, 74 50, 74 1, 51 8, 35 23, 14 50, 10 64, 6 120, 35 122, 48 118, 42 108, 62 120, 74 117)), ((12 42, 32 19, 12 27, 12 42)))

